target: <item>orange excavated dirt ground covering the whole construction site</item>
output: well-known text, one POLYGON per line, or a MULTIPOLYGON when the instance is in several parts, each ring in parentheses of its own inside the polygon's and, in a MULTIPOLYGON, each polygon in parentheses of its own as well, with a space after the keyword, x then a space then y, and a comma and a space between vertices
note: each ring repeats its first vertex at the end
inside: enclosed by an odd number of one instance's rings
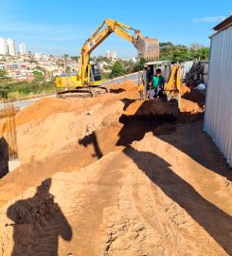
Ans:
POLYGON ((16 115, 0 255, 232 255, 232 171, 203 131, 204 95, 183 85, 179 119, 134 119, 136 84, 111 88, 16 115))

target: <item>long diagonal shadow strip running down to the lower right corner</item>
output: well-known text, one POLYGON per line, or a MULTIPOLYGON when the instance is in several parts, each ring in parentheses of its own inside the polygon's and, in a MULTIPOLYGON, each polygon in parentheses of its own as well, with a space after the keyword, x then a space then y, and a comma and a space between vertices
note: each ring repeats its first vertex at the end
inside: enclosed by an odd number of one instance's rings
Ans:
POLYGON ((228 255, 232 255, 229 237, 229 232, 232 232, 232 217, 229 214, 205 200, 187 181, 173 173, 170 164, 159 156, 137 151, 130 146, 124 149, 124 153, 133 159, 137 167, 170 199, 185 209, 228 255))

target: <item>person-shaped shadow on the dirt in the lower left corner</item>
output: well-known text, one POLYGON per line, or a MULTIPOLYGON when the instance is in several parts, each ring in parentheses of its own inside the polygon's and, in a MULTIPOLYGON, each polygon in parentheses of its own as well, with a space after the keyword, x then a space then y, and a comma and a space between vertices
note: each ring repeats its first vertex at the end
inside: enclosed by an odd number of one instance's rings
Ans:
POLYGON ((49 192, 51 179, 46 179, 33 197, 19 200, 7 211, 13 225, 12 256, 58 255, 58 241, 70 241, 72 229, 61 208, 49 192))

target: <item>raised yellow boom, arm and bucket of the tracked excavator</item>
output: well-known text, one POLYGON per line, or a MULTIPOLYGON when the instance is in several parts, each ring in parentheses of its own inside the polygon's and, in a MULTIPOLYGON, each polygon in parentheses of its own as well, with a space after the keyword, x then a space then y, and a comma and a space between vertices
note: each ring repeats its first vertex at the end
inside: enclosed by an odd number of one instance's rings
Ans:
POLYGON ((142 36, 139 30, 124 25, 111 19, 104 20, 95 33, 84 43, 80 50, 80 69, 79 79, 84 83, 87 76, 87 68, 89 64, 91 52, 98 47, 111 33, 131 42, 134 47, 147 60, 156 60, 159 57, 159 43, 157 39, 149 39, 142 36), (105 28, 104 25, 106 26, 105 28), (134 35, 130 34, 126 29, 133 30, 134 35))

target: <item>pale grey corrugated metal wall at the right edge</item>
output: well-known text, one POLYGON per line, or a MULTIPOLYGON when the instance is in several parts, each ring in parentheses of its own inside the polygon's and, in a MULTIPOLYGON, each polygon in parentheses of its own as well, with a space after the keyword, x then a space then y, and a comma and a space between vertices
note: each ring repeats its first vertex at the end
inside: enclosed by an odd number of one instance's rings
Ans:
POLYGON ((232 27, 211 39, 204 129, 232 167, 232 27))

